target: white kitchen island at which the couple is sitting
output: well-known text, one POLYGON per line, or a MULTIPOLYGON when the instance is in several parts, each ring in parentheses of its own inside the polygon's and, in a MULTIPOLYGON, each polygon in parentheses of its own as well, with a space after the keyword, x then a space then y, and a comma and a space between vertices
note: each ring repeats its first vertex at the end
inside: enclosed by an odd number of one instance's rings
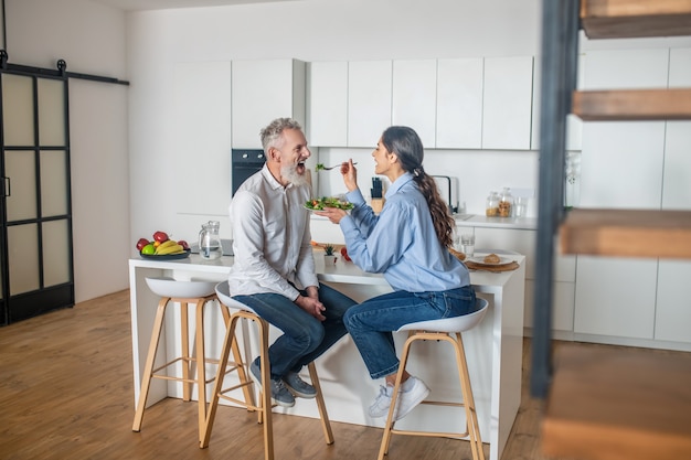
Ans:
MULTIPOLYGON (((490 309, 477 328, 464 334, 480 434, 482 440, 490 445, 489 458, 492 460, 501 458, 521 398, 524 257, 514 254, 506 257, 517 260, 520 267, 513 271, 500 274, 471 271, 470 280, 476 291, 490 301, 490 309)), ((325 264, 322 253, 316 250, 315 261, 321 281, 343 291, 357 301, 391 291, 389 284, 381 275, 365 274, 342 258, 339 258, 336 264, 325 264)), ((146 278, 166 276, 178 280, 223 281, 232 265, 233 257, 227 256, 216 260, 204 260, 199 255, 169 261, 139 257, 129 260, 135 405, 139 398, 141 373, 158 303, 158 297, 149 290, 146 278)), ((179 330, 179 310, 171 310, 166 318, 157 363, 166 362, 167 356, 179 355, 181 345, 179 334, 174 332, 179 330), (166 331, 173 332, 167 334, 166 331)), ((206 355, 217 356, 225 334, 217 308, 206 307, 205 327, 206 355)), ((193 320, 190 328, 194 328, 193 320)), ((255 349, 256 331, 243 324, 241 333, 244 338, 252 339, 241 340, 241 345, 247 345, 245 346, 245 362, 249 362, 258 353, 255 349)), ((279 333, 280 331, 272 328, 270 340, 273 341, 279 333)), ((401 349, 405 334, 395 334, 395 340, 401 349)), ((427 383, 436 400, 459 400, 460 398, 458 374, 453 356, 450 346, 439 343, 423 342, 412 349, 407 368, 427 383)), ((383 381, 370 378, 358 350, 348 336, 317 360, 317 370, 331 420, 374 427, 383 426, 383 419, 372 419, 368 415, 368 407, 383 381)), ((213 375, 215 368, 210 366, 208 372, 213 375)), ((232 378, 236 377, 234 375, 226 377, 228 382, 232 382, 232 378)), ((211 384, 209 389, 211 391, 211 384)), ((195 395, 196 393, 194 393, 194 398, 195 395)), ((148 405, 164 397, 182 397, 181 384, 155 379, 151 383, 148 405)), ((275 410, 313 418, 319 416, 317 405, 302 399, 298 399, 295 407, 277 407, 275 410)), ((461 410, 448 407, 423 405, 398 421, 396 427, 449 430, 453 424, 465 421, 465 416, 460 413, 461 410)))

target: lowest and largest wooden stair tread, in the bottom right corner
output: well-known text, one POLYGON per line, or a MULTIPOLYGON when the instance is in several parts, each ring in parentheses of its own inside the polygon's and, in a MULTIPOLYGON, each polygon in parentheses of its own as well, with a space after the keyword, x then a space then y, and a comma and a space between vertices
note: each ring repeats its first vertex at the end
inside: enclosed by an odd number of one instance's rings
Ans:
POLYGON ((691 458, 691 353, 560 345, 542 441, 548 457, 691 458))

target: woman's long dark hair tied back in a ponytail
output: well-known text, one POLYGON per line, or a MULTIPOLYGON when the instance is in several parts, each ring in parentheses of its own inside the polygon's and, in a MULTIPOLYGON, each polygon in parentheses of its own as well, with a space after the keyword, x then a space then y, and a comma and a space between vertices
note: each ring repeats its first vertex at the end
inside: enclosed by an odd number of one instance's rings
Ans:
POLYGON ((392 126, 382 135, 382 142, 386 150, 396 153, 404 171, 413 174, 417 188, 425 196, 432 222, 437 234, 437 239, 443 247, 449 247, 454 243, 454 227, 456 223, 451 217, 447 204, 442 200, 437 183, 423 169, 425 150, 417 132, 407 126, 392 126))

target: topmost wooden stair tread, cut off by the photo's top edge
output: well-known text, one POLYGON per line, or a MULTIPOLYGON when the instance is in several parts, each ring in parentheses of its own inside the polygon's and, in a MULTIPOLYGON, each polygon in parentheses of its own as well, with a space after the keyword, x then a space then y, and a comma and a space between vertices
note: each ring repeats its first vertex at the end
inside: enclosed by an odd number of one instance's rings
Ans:
POLYGON ((691 35, 690 0, 582 0, 589 39, 691 35))

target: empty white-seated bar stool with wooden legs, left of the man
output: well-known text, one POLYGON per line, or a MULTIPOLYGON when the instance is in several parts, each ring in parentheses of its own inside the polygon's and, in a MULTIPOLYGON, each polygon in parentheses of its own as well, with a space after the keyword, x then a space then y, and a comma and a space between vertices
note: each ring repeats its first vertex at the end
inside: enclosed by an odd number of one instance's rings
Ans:
MULTIPOLYGON (((212 379, 206 379, 206 364, 217 364, 219 360, 206 359, 204 352, 204 307, 208 302, 217 300, 215 293, 216 281, 178 281, 172 278, 147 278, 146 279, 149 289, 161 299, 158 302, 158 309, 156 311, 156 319, 153 320, 153 330, 151 332, 151 341, 149 344, 149 352, 143 368, 141 379, 141 391, 139 393, 139 402, 137 404, 137 411, 135 413, 135 421, 132 424, 132 431, 140 431, 143 419, 143 413, 147 404, 147 396, 149 395, 149 387, 152 378, 160 378, 166 381, 182 382, 182 399, 188 402, 192 396, 192 388, 194 384, 198 385, 198 424, 199 424, 199 440, 202 439, 204 425, 206 421, 206 384, 212 379), (194 355, 190 351, 189 339, 189 310, 188 304, 194 303, 196 306, 196 323, 195 323, 195 352, 194 355), (178 356, 163 365, 153 368, 153 362, 156 360, 156 353, 160 343, 161 331, 163 329, 163 322, 166 319, 166 310, 171 304, 180 306, 180 334, 181 334, 181 356, 178 356), (182 376, 167 375, 161 371, 167 371, 168 367, 173 364, 182 363, 182 376), (196 364, 196 376, 190 375, 192 364, 196 364)), ((227 308, 221 307, 221 313, 223 314, 223 321, 227 324, 230 321, 230 312, 227 308)), ((234 344, 234 357, 240 359, 240 352, 237 345, 234 344)), ((241 362, 242 363, 242 362, 241 362)), ((231 363, 231 365, 236 365, 231 363)), ((244 367, 238 365, 238 372, 247 381, 247 375, 244 373, 244 367)), ((224 373, 231 372, 234 367, 227 368, 227 363, 224 364, 224 373)), ((245 393, 246 400, 251 400, 248 391, 245 393)))

